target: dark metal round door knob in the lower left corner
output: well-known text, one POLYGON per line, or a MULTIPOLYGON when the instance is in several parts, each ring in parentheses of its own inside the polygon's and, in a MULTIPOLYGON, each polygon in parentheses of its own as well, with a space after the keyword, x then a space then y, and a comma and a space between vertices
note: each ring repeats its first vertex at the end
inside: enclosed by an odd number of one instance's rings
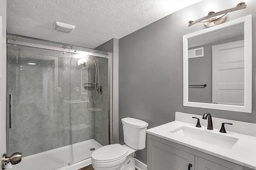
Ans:
POLYGON ((6 154, 4 154, 1 158, 2 169, 4 170, 7 167, 20 163, 21 158, 22 154, 20 152, 16 152, 12 154, 10 157, 7 157, 6 154))

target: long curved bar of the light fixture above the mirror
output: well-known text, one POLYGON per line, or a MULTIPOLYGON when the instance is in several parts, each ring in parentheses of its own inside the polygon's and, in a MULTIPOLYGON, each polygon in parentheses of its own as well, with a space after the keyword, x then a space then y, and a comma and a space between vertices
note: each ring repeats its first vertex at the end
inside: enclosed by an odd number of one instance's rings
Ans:
POLYGON ((245 4, 245 3, 240 3, 240 4, 238 4, 238 5, 237 5, 236 7, 234 7, 234 8, 230 8, 230 9, 223 10, 223 11, 220 11, 220 12, 215 12, 215 13, 213 13, 213 14, 210 14, 210 15, 208 15, 208 16, 205 16, 205 17, 200 18, 200 19, 195 20, 195 21, 189 21, 189 22, 188 22, 188 26, 190 27, 190 26, 192 26, 192 25, 194 25, 194 24, 196 24, 196 23, 198 23, 198 22, 207 20, 207 19, 212 18, 212 17, 214 17, 214 16, 218 16, 218 15, 221 15, 221 14, 227 14, 228 12, 233 12, 233 11, 237 11, 237 10, 242 10, 242 9, 244 9, 244 8, 246 8, 246 4, 245 4))

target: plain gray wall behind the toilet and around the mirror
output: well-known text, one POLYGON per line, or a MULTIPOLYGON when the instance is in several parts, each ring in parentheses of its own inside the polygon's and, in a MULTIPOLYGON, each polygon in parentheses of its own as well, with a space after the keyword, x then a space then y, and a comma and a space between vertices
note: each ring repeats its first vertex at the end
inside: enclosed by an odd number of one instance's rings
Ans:
MULTIPOLYGON (((158 20, 119 40, 119 121, 134 117, 149 123, 148 128, 174 121, 175 112, 256 123, 256 97, 252 97, 252 113, 240 113, 183 106, 182 36, 205 29, 202 23, 188 27, 187 21, 206 16, 204 9, 215 4, 218 11, 236 6, 234 0, 203 0, 158 20), (195 18, 189 18, 193 14, 195 18)), ((256 1, 247 2, 247 8, 228 14, 226 22, 252 14, 252 36, 256 43, 256 1)), ((216 12, 218 12, 216 11, 216 12)), ((256 49, 253 55, 253 89, 256 93, 256 49)), ((121 122, 119 122, 121 123, 121 122)), ((119 128, 119 142, 123 142, 119 128)), ((139 150, 136 158, 147 163, 147 151, 139 150)))

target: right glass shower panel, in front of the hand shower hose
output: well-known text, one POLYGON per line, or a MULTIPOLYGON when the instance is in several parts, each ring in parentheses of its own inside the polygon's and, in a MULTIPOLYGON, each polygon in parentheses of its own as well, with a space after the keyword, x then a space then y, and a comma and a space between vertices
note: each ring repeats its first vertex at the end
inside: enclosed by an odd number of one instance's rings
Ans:
POLYGON ((70 53, 72 163, 109 144, 108 55, 101 55, 70 53))

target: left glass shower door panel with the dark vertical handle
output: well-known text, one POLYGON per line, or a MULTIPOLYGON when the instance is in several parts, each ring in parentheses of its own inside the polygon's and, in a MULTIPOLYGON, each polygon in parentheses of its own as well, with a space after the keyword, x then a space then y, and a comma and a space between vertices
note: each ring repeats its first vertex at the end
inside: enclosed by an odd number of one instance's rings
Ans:
POLYGON ((8 155, 43 152, 52 169, 70 162, 68 74, 68 53, 8 44, 8 155), (45 152, 62 146, 62 159, 45 152))

